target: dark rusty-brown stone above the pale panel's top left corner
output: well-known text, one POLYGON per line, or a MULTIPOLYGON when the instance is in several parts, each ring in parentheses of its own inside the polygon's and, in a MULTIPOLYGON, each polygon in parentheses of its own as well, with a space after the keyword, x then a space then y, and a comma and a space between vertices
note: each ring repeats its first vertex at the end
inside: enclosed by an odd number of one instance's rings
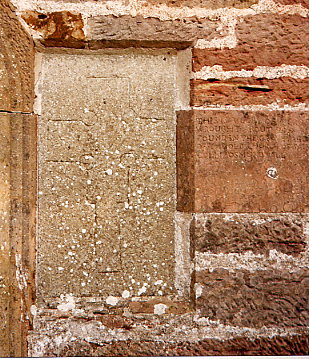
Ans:
POLYGON ((42 35, 46 46, 85 47, 84 22, 81 14, 69 11, 40 13, 26 11, 22 18, 31 29, 42 35))

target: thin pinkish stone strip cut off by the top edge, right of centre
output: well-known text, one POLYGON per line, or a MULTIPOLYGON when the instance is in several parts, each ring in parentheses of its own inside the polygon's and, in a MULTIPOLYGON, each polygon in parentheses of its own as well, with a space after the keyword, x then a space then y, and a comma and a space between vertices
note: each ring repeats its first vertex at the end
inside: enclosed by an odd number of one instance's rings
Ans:
POLYGON ((238 9, 249 7, 256 4, 257 0, 138 0, 142 5, 167 5, 170 7, 189 8, 202 7, 210 9, 218 9, 224 7, 235 7, 238 9))

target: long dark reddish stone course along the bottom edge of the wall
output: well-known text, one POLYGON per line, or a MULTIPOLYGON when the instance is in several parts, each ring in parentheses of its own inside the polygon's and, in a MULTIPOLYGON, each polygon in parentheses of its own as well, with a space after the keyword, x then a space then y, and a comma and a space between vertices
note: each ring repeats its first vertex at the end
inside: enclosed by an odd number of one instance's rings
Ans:
POLYGON ((105 345, 72 342, 58 350, 47 349, 45 356, 209 356, 209 355, 306 355, 308 335, 272 336, 250 339, 204 339, 176 343, 154 341, 114 341, 105 345))

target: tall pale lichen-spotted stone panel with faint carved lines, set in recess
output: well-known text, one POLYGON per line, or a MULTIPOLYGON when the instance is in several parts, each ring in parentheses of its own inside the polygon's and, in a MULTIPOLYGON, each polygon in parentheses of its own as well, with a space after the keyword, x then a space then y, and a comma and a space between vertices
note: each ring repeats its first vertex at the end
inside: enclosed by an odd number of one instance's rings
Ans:
POLYGON ((43 56, 39 299, 173 291, 175 63, 43 56))

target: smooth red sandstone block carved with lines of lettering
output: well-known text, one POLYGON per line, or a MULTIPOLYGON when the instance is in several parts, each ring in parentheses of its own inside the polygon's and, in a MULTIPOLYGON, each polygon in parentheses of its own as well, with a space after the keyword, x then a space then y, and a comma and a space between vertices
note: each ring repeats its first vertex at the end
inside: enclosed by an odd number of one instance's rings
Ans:
POLYGON ((193 164, 188 164, 185 156, 179 158, 177 176, 185 186, 183 193, 189 193, 193 199, 184 200, 185 196, 180 195, 178 210, 305 211, 306 112, 180 112, 178 131, 188 121, 193 122, 194 131, 185 139, 178 137, 177 147, 184 148, 188 143, 190 148, 194 142, 190 159, 193 164), (183 179, 188 165, 194 166, 194 181, 192 175, 183 179), (194 190, 186 189, 192 186, 194 190))

